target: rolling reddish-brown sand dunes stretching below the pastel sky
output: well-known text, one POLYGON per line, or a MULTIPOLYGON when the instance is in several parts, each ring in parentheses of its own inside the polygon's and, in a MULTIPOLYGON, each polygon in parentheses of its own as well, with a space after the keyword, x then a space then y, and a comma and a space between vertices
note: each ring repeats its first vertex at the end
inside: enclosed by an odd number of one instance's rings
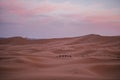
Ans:
POLYGON ((120 36, 1 38, 0 80, 120 80, 120 36))

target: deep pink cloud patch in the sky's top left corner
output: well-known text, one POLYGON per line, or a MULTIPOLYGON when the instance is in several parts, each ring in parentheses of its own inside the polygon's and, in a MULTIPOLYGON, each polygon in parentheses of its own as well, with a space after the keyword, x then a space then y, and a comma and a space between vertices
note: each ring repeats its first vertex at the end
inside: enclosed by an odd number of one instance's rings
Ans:
POLYGON ((29 15, 30 12, 25 8, 25 4, 18 0, 1 1, 0 7, 7 12, 17 15, 29 15))

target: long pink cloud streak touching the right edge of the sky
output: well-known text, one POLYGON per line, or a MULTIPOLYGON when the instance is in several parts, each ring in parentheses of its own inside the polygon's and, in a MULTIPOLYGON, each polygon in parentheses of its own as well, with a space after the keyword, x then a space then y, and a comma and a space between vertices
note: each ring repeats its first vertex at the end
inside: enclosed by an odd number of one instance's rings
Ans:
POLYGON ((97 15, 87 17, 86 22, 99 25, 99 26, 119 26, 120 27, 120 15, 97 15))

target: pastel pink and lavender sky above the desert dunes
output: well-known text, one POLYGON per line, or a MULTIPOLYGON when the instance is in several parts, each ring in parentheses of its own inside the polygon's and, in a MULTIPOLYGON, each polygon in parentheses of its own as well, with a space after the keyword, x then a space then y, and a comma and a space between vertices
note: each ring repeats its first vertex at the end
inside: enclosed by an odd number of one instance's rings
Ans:
POLYGON ((120 0, 0 0, 0 37, 120 35, 120 0))

